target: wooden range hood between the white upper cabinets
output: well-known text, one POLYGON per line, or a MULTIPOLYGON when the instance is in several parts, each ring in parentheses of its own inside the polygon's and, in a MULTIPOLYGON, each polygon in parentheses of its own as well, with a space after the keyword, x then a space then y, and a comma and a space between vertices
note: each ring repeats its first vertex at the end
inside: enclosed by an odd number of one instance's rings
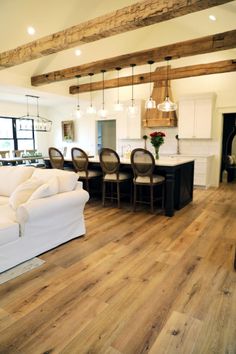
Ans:
MULTIPOLYGON (((159 80, 154 82, 152 98, 156 101, 156 104, 163 102, 166 98, 166 85, 168 85, 168 95, 171 101, 173 100, 170 80, 168 83, 166 80, 159 80)), ((143 119, 144 127, 176 127, 177 126, 177 115, 176 111, 172 112, 162 112, 157 108, 151 108, 145 110, 145 115, 143 119)))

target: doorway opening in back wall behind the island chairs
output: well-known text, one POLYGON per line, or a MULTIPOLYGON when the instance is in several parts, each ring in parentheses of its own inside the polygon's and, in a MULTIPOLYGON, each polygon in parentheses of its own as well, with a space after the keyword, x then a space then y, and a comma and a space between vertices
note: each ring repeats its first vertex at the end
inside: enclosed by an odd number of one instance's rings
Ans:
POLYGON ((97 152, 100 153, 102 148, 110 148, 116 150, 116 121, 99 120, 97 121, 97 152))

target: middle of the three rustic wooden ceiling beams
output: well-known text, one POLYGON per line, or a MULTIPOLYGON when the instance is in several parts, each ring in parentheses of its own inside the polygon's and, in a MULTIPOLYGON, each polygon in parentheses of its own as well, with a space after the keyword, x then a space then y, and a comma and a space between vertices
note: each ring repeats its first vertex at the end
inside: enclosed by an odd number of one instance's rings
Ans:
POLYGON ((40 86, 53 82, 73 79, 77 75, 86 76, 89 73, 97 74, 101 72, 101 69, 111 71, 116 67, 126 68, 133 63, 136 65, 144 65, 148 60, 161 62, 165 60, 166 56, 171 56, 173 59, 178 59, 235 47, 236 30, 232 30, 33 76, 31 78, 31 84, 33 86, 40 86))

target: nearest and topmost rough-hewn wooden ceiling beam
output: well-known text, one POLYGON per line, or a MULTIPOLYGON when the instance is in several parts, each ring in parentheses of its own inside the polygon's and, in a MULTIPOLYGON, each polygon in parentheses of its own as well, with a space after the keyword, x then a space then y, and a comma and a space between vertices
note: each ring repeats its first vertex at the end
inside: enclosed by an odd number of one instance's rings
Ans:
POLYGON ((0 53, 0 69, 232 0, 145 0, 0 53))

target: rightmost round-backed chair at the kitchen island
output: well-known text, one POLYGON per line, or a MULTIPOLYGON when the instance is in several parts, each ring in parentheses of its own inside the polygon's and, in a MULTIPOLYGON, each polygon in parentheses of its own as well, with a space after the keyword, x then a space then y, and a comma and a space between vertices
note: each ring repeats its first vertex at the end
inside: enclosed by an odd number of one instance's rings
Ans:
MULTIPOLYGON (((164 208, 165 198, 165 177, 154 174, 155 159, 148 150, 138 148, 131 152, 131 166, 134 174, 134 201, 133 210, 136 210, 136 203, 147 203, 143 199, 137 200, 137 188, 148 186, 150 188, 150 205, 151 212, 154 212, 154 201, 161 200, 162 208, 164 208), (161 197, 154 199, 154 187, 161 186, 161 197)), ((148 203, 149 203, 148 202, 148 203)))

